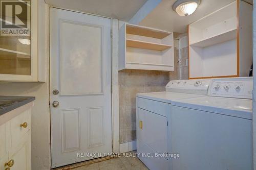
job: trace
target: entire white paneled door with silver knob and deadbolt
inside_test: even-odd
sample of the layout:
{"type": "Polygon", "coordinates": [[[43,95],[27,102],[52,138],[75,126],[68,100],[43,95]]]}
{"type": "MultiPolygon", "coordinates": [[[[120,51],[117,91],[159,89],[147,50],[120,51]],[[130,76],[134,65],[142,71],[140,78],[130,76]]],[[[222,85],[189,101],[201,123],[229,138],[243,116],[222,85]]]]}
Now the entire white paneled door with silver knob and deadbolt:
{"type": "Polygon", "coordinates": [[[98,155],[78,153],[112,152],[111,19],[50,12],[51,153],[58,167],[98,155]]]}

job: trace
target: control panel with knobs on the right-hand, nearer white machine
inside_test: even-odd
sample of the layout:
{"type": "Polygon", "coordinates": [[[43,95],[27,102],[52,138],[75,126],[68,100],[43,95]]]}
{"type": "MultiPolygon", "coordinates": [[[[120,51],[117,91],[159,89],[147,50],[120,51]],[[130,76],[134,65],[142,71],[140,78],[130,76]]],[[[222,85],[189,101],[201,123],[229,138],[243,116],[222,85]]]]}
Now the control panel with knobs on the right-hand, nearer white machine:
{"type": "Polygon", "coordinates": [[[208,95],[252,99],[252,77],[212,79],[208,95]]]}

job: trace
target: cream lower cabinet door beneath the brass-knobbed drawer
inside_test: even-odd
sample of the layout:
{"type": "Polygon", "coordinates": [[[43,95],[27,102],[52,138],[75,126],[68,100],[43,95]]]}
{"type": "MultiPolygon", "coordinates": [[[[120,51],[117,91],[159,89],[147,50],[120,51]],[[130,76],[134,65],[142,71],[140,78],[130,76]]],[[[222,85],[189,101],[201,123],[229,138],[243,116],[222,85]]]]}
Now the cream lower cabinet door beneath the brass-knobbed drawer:
{"type": "Polygon", "coordinates": [[[31,131],[29,131],[16,148],[9,152],[9,160],[13,159],[14,164],[11,170],[31,170],[31,131]]]}

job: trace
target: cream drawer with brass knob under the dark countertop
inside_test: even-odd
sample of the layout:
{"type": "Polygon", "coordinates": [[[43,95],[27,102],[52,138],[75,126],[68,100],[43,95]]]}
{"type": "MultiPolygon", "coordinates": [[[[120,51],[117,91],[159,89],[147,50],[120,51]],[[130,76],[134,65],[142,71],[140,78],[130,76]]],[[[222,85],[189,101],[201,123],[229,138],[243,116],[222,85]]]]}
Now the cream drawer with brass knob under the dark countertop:
{"type": "Polygon", "coordinates": [[[11,144],[16,147],[22,137],[31,129],[31,109],[24,111],[10,120],[11,144]],[[26,126],[22,126],[25,125],[26,126]]]}

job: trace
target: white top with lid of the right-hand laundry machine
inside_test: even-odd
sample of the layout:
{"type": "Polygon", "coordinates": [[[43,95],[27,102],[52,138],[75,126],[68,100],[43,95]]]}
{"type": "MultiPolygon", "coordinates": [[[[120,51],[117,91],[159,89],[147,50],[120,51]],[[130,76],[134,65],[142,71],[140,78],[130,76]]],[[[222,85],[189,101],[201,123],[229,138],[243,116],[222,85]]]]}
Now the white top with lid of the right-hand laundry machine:
{"type": "Polygon", "coordinates": [[[201,96],[199,98],[174,100],[172,105],[252,119],[252,100],[249,99],[201,96]]]}

